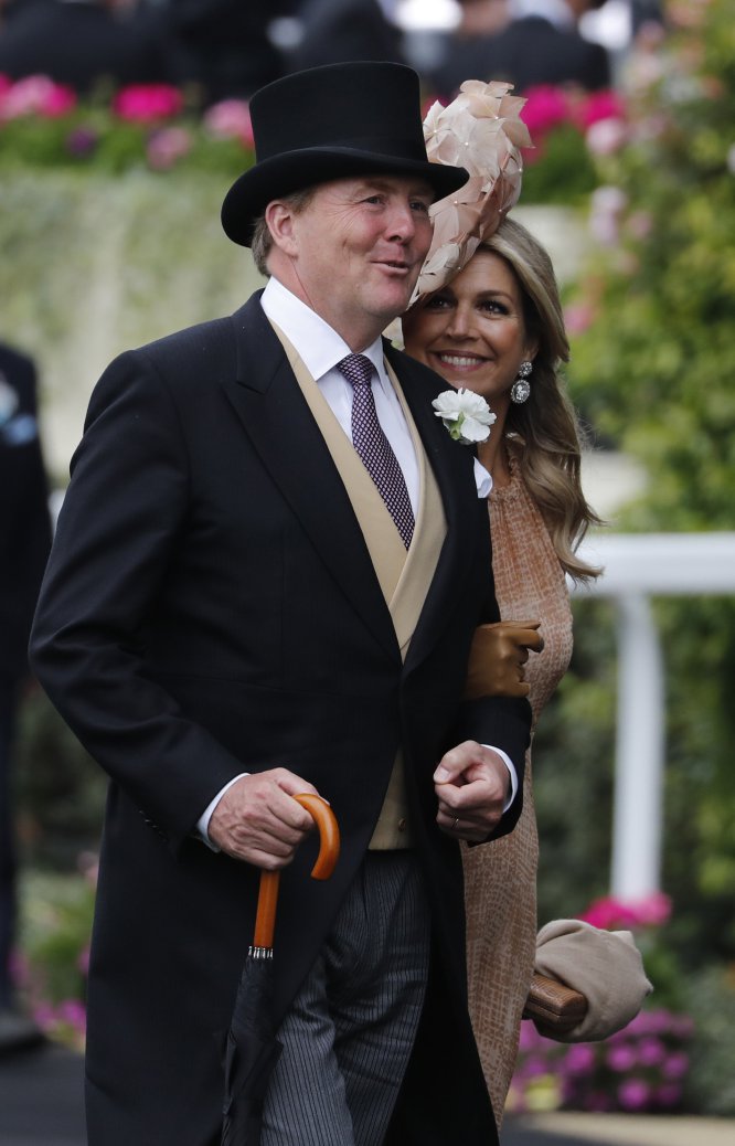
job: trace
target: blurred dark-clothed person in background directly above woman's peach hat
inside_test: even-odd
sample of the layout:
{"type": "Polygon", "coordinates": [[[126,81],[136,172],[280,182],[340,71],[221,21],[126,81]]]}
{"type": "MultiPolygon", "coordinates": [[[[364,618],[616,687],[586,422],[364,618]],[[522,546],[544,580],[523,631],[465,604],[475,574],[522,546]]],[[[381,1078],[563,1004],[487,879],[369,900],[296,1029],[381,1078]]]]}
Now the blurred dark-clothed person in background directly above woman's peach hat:
{"type": "MultiPolygon", "coordinates": [[[[609,87],[610,61],[601,44],[586,40],[578,28],[604,0],[508,0],[508,21],[499,31],[483,31],[480,15],[495,18],[498,0],[460,0],[472,11],[472,34],[458,34],[430,79],[435,91],[453,96],[459,85],[476,79],[507,80],[515,94],[539,84],[574,84],[593,92],[609,87]]],[[[461,28],[461,25],[460,25],[461,28]]]]}

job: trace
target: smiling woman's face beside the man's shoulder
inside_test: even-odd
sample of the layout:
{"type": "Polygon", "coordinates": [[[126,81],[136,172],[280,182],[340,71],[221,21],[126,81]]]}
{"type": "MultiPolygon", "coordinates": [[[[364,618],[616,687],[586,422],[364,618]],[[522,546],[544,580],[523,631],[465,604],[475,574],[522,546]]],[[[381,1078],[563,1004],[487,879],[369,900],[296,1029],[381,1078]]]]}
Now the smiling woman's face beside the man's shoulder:
{"type": "Polygon", "coordinates": [[[507,409],[521,362],[532,359],[521,288],[505,259],[482,248],[448,286],[403,317],[405,348],[452,386],[507,409]]]}

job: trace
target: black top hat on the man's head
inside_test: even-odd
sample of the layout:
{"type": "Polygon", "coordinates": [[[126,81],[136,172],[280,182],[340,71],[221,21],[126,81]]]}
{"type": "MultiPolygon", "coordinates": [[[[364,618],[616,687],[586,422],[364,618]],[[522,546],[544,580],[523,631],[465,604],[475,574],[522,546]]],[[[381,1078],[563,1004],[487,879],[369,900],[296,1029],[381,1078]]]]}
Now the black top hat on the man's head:
{"type": "Polygon", "coordinates": [[[464,167],[429,163],[419,77],[404,64],[353,61],[293,72],[250,104],[256,163],[230,187],[222,226],[250,246],[271,199],[332,179],[418,175],[443,198],[467,182],[464,167]]]}

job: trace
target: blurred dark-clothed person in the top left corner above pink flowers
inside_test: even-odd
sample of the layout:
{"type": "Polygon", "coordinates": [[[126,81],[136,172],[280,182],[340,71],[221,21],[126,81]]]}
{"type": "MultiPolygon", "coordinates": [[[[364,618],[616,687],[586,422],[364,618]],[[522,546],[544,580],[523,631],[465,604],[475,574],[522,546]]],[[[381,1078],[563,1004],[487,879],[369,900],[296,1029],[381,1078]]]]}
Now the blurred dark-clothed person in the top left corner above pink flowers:
{"type": "Polygon", "coordinates": [[[161,30],[135,0],[16,2],[0,24],[0,72],[11,79],[48,76],[87,95],[103,81],[160,81],[166,68],[161,30]]]}

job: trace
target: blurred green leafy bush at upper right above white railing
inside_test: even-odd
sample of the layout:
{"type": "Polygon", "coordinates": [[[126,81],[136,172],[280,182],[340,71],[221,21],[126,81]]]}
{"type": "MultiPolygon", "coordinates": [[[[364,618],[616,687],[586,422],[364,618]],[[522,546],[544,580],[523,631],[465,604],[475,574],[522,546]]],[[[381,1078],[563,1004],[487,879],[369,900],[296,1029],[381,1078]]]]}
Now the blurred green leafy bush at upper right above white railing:
{"type": "Polygon", "coordinates": [[[733,524],[735,179],[732,13],[711,0],[698,50],[672,40],[663,74],[631,104],[630,140],[602,165],[624,195],[619,245],[583,278],[594,322],[571,382],[594,425],[649,470],[637,528],[733,524]],[[696,65],[693,66],[694,58],[696,65]]]}

